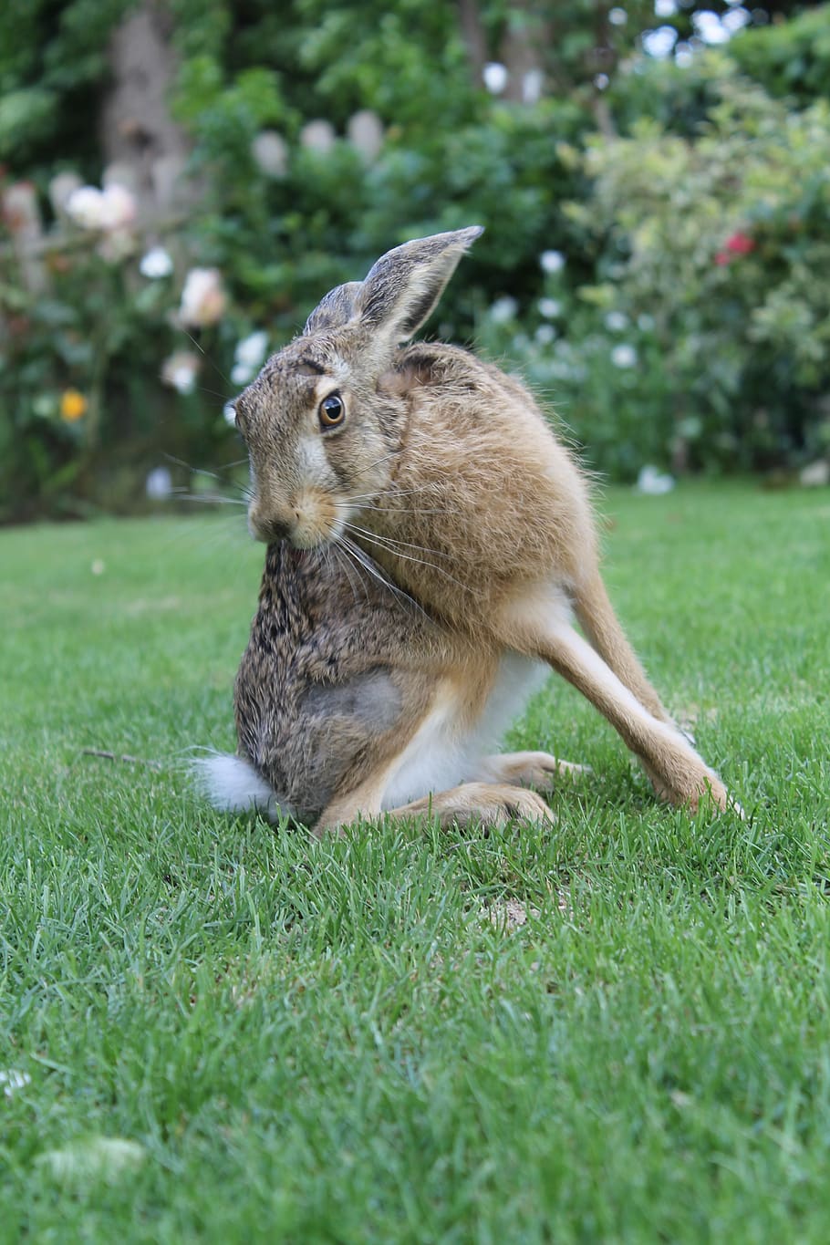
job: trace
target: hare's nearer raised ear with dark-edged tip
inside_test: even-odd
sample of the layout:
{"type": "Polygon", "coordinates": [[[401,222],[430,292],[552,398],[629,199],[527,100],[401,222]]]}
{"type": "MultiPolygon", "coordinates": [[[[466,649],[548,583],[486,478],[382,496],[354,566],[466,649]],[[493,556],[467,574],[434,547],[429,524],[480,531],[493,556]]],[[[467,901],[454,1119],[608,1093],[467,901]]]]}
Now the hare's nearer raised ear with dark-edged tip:
{"type": "Polygon", "coordinates": [[[482,233],[480,225],[469,225],[416,238],[381,255],[355,300],[356,320],[391,345],[406,341],[424,322],[459,259],[482,233]]]}

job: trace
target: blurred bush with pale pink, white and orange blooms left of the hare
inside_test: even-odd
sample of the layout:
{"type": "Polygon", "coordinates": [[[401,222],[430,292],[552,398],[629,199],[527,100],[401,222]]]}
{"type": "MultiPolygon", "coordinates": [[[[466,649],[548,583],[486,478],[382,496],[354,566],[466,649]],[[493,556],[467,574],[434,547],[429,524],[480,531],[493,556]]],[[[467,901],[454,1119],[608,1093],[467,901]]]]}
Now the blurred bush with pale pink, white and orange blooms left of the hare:
{"type": "Polygon", "coordinates": [[[14,260],[0,286],[0,520],[168,496],[152,476],[163,454],[195,467],[223,453],[223,372],[249,320],[217,270],[188,269],[178,238],[147,244],[124,187],[77,187],[46,233],[25,186],[0,189],[14,260]]]}

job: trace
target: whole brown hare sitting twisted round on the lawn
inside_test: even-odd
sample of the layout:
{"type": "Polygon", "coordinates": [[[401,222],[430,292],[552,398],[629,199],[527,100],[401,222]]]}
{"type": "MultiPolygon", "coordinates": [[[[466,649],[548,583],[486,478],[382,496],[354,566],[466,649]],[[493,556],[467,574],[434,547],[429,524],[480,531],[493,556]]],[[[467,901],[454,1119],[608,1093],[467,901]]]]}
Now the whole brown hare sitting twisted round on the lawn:
{"type": "Polygon", "coordinates": [[[530,393],[455,346],[401,349],[480,233],[406,243],[333,289],[236,400],[268,553],[238,754],[203,762],[220,808],[317,834],[381,813],[553,819],[531,788],[580,767],[495,752],[549,667],[661,797],[729,804],[616,619],[585,476],[530,393]]]}

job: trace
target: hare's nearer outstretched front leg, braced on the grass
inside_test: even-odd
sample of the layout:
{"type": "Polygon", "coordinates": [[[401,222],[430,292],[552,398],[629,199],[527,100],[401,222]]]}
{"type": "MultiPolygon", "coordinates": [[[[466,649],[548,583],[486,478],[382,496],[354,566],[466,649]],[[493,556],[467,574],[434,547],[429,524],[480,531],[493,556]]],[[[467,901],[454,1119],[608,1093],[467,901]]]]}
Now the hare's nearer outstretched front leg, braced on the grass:
{"type": "Polygon", "coordinates": [[[561,603],[546,599],[514,606],[510,642],[543,657],[615,727],[646,768],[660,796],[697,808],[707,796],[729,806],[727,791],[677,727],[660,721],[574,629],[561,603]]]}

